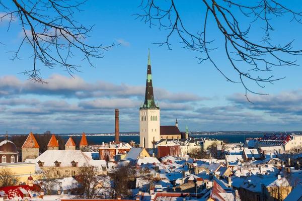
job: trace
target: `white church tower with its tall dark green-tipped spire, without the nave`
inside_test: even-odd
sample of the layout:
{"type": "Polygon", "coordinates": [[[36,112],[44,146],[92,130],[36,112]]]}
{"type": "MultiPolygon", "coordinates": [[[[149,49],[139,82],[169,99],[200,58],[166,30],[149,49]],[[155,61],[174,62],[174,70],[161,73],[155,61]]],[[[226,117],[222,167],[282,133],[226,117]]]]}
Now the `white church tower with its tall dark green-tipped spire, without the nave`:
{"type": "Polygon", "coordinates": [[[160,141],[160,108],[155,104],[150,51],[148,54],[146,92],[143,105],[139,108],[139,144],[140,147],[150,150],[153,141],[160,141]]]}

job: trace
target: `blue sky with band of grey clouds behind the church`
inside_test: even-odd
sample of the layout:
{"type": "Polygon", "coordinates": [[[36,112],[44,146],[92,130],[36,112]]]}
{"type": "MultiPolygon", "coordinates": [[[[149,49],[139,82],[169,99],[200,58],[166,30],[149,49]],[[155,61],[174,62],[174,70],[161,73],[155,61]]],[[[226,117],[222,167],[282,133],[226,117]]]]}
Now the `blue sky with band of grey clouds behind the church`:
{"type": "MultiPolygon", "coordinates": [[[[291,5],[286,5],[289,8],[291,5]]],[[[296,2],[295,9],[301,10],[296,2]]],[[[85,25],[95,25],[87,42],[111,45],[121,43],[104,53],[104,58],[94,60],[96,68],[83,62],[75,78],[60,67],[47,69],[40,66],[48,84],[27,80],[24,70],[30,70],[33,61],[28,58],[31,49],[25,45],[20,55],[23,60],[11,61],[11,54],[18,48],[22,38],[18,20],[7,32],[7,22],[0,22],[1,74],[0,74],[0,133],[27,134],[50,130],[54,133],[114,132],[114,110],[120,110],[120,131],[138,131],[138,108],[143,101],[148,48],[152,60],[155,98],[161,108],[161,125],[173,125],[178,118],[180,130],[188,124],[191,131],[290,131],[300,130],[302,120],[302,85],[300,66],[273,68],[276,77],[285,79],[259,88],[250,87],[269,95],[253,95],[247,102],[241,84],[225,81],[225,78],[209,63],[198,64],[195,57],[200,53],[182,49],[179,38],[172,37],[172,50],[153,43],[163,42],[167,31],[159,31],[132,14],[141,12],[139,2],[134,1],[88,1],[83,12],[75,19],[85,25]]],[[[196,2],[178,2],[180,15],[189,30],[197,31],[203,26],[202,6],[196,2]]],[[[0,14],[3,11],[0,11],[0,14]]],[[[238,14],[238,13],[235,13],[238,14]]],[[[238,14],[239,15],[239,14],[238,14]]],[[[276,32],[274,42],[285,44],[295,40],[293,48],[301,47],[299,34],[302,25],[290,17],[272,21],[276,32]]],[[[211,22],[211,21],[210,21],[211,22]]],[[[249,19],[241,23],[249,25],[249,19]]],[[[261,24],[254,23],[250,39],[261,37],[261,24]]],[[[216,39],[213,58],[230,77],[237,73],[225,60],[221,35],[215,26],[209,27],[210,37],[216,39]]],[[[285,57],[287,58],[287,56],[285,57]]],[[[288,57],[301,64],[301,56],[288,57]]]]}

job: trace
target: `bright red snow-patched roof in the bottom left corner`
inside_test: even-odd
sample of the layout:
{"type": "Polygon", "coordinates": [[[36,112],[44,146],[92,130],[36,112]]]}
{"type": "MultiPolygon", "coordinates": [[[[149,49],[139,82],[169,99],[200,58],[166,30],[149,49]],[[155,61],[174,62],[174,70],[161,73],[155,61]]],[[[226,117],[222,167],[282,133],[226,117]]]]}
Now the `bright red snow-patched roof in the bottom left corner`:
{"type": "Polygon", "coordinates": [[[22,191],[26,190],[29,193],[29,197],[36,194],[36,196],[40,195],[41,187],[39,185],[16,185],[16,186],[7,186],[0,187],[0,191],[5,192],[8,196],[8,199],[23,199],[24,193],[22,191]],[[21,190],[23,189],[23,190],[21,190]]]}

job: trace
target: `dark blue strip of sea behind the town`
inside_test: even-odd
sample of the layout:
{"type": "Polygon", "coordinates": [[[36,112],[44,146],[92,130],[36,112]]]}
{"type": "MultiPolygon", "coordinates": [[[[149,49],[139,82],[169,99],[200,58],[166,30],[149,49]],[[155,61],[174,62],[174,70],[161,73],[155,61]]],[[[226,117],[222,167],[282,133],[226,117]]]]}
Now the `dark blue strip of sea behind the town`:
{"type": "MultiPolygon", "coordinates": [[[[245,138],[256,138],[263,137],[263,135],[190,135],[190,137],[194,138],[214,138],[217,140],[227,140],[228,142],[244,142],[245,138]]],[[[68,136],[62,136],[65,141],[68,140],[68,136]]],[[[89,142],[93,142],[94,144],[101,145],[103,142],[108,143],[114,141],[114,136],[86,136],[89,142]]],[[[73,136],[73,140],[77,139],[77,141],[81,140],[81,136],[73,136]]],[[[135,143],[139,144],[139,136],[120,136],[120,141],[129,142],[133,140],[135,143]]]]}

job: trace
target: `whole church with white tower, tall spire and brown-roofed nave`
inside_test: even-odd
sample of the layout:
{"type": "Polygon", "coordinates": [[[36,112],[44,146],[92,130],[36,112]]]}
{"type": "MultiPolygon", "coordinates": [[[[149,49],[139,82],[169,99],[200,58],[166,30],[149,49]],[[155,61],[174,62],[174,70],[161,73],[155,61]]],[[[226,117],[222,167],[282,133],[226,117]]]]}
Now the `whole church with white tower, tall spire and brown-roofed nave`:
{"type": "Polygon", "coordinates": [[[147,65],[147,79],[145,99],[143,105],[140,104],[139,108],[139,144],[140,147],[146,150],[153,149],[153,143],[158,142],[161,139],[180,139],[182,137],[181,132],[178,129],[178,122],[176,120],[175,126],[161,126],[161,115],[159,104],[155,103],[152,73],[151,73],[151,61],[150,52],[148,54],[147,65]]]}

